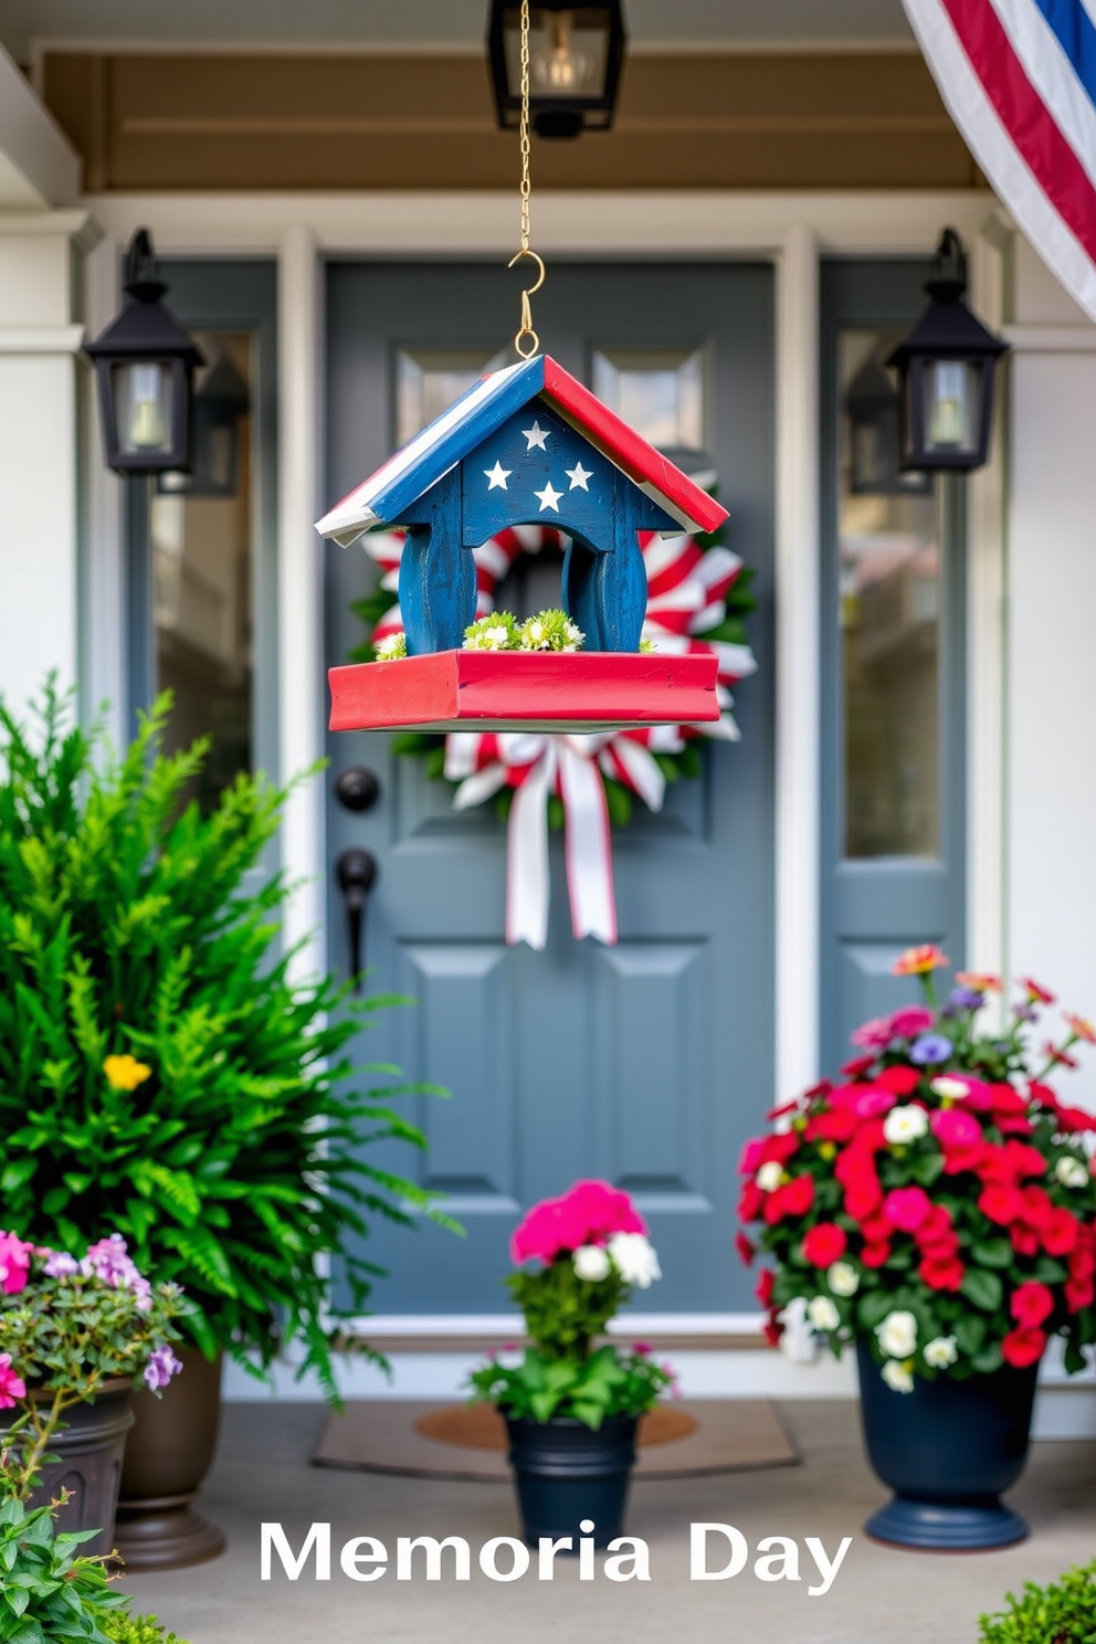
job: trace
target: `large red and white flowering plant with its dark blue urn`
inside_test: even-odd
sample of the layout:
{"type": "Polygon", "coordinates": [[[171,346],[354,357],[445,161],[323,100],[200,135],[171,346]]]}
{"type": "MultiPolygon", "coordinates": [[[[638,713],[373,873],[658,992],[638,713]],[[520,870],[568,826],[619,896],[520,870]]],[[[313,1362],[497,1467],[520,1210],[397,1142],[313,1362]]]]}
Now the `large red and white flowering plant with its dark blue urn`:
{"type": "MultiPolygon", "coordinates": [[[[1027,1534],[997,1498],[1024,1468],[1038,1363],[1058,1335],[1078,1371],[1096,1342],[1096,1118],[1047,1083],[1096,1029],[1066,1014],[1035,1054],[1053,996],[1025,978],[986,1028],[1001,978],[960,973],[940,1003],[946,963],[904,954],[923,1003],[859,1028],[841,1077],[746,1144],[739,1217],[776,1258],[758,1286],[769,1338],[797,1307],[835,1353],[856,1346],[868,1455],[896,1491],[869,1534],[963,1549],[1027,1534]]],[[[756,1253],[746,1235],[739,1251],[756,1253]]]]}

